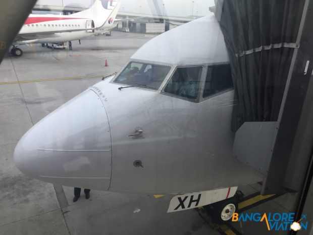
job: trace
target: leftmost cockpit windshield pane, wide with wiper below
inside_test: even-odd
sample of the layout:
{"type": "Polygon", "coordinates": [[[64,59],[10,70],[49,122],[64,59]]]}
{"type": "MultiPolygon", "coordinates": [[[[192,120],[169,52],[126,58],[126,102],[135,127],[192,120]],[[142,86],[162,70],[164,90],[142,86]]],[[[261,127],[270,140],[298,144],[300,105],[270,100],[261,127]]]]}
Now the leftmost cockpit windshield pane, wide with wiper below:
{"type": "Polygon", "coordinates": [[[170,66],[130,62],[114,82],[157,90],[170,69],[170,66]]]}

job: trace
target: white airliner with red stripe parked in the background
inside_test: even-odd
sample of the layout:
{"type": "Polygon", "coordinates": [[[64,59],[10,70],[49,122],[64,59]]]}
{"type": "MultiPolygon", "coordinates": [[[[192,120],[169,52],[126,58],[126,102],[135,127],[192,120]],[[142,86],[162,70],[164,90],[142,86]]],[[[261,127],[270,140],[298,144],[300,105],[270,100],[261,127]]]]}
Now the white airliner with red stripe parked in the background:
{"type": "Polygon", "coordinates": [[[95,0],[89,9],[72,15],[29,15],[12,43],[11,54],[23,55],[18,45],[78,40],[114,28],[118,21],[122,21],[115,19],[121,4],[117,1],[104,3],[105,8],[101,1],[95,0]]]}

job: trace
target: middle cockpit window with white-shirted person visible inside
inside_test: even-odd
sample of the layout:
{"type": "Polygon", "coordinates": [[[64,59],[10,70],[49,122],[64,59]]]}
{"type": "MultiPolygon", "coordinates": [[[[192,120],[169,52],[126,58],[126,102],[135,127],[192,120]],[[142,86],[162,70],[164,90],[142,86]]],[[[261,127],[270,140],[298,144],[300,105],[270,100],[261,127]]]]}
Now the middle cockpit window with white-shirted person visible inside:
{"type": "Polygon", "coordinates": [[[196,100],[201,70],[201,66],[177,68],[163,91],[196,100]]]}

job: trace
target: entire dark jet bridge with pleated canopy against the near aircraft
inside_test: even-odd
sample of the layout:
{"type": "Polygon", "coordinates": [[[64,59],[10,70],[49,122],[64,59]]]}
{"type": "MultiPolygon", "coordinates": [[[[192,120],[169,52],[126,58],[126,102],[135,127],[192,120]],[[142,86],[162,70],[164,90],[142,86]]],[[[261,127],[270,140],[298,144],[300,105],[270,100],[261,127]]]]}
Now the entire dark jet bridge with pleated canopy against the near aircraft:
{"type": "Polygon", "coordinates": [[[263,175],[263,195],[298,191],[298,215],[312,177],[312,8],[218,0],[214,9],[235,86],[233,155],[263,175]]]}

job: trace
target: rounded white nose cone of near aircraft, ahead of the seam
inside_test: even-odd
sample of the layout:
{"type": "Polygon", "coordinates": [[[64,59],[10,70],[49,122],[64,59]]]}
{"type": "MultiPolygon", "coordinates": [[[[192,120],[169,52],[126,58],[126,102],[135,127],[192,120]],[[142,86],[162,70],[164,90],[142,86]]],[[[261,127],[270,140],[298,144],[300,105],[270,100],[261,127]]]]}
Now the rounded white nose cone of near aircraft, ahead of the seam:
{"type": "Polygon", "coordinates": [[[108,190],[111,133],[96,93],[84,91],[34,125],[17,144],[14,161],[43,181],[108,190]]]}

